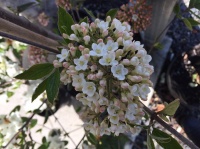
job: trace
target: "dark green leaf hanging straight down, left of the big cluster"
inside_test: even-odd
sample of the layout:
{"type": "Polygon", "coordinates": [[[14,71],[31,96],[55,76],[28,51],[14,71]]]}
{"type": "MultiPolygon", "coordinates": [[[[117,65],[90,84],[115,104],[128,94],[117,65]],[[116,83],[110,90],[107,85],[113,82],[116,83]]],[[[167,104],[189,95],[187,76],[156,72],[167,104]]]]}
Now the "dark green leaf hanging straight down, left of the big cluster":
{"type": "Polygon", "coordinates": [[[47,84],[46,84],[46,92],[47,92],[47,98],[48,101],[53,104],[54,100],[56,99],[59,91],[59,85],[60,85],[60,72],[59,69],[55,69],[54,73],[52,73],[47,78],[47,84]]]}

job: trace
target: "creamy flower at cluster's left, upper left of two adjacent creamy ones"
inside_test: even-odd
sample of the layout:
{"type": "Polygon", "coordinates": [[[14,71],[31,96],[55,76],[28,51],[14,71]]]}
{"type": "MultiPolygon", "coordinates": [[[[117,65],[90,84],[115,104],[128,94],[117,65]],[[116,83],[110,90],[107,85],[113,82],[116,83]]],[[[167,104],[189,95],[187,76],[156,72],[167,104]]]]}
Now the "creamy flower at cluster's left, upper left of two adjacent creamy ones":
{"type": "Polygon", "coordinates": [[[79,75],[73,75],[72,80],[73,80],[72,85],[74,87],[78,86],[80,88],[82,88],[83,84],[86,82],[83,73],[80,73],[79,75]]]}

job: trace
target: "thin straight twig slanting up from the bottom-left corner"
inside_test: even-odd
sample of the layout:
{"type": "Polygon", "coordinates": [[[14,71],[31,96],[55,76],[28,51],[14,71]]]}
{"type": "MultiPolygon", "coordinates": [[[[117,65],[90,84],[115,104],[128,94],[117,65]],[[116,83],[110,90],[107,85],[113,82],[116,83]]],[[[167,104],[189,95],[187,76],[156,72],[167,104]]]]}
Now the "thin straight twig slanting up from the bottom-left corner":
{"type": "MultiPolygon", "coordinates": [[[[39,106],[38,109],[40,109],[43,104],[46,102],[46,100],[39,106]]],[[[32,120],[32,118],[35,116],[36,113],[33,113],[29,119],[26,121],[26,123],[24,125],[22,125],[21,128],[19,128],[19,131],[8,141],[8,143],[5,146],[2,146],[3,149],[6,149],[8,147],[8,145],[16,138],[19,136],[19,134],[23,131],[23,129],[30,123],[30,121],[32,120]]]]}

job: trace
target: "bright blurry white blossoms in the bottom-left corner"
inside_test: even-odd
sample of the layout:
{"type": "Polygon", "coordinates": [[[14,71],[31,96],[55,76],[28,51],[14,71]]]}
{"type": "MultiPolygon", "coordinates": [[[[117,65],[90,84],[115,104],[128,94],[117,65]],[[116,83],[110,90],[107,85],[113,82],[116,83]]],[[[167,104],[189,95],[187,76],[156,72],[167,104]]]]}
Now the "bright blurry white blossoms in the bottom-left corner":
{"type": "MultiPolygon", "coordinates": [[[[22,119],[18,112],[12,112],[9,116],[0,115],[0,133],[3,137],[0,137],[0,147],[5,146],[10,139],[19,131],[19,128],[23,125],[22,119]]],[[[7,147],[8,149],[13,149],[14,143],[7,147]]]]}

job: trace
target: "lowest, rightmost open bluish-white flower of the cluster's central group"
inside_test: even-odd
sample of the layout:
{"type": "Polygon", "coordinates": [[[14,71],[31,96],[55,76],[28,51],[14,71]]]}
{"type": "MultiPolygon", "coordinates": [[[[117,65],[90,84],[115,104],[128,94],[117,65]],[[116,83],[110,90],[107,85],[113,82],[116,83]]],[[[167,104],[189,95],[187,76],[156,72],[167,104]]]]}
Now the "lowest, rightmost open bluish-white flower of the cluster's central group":
{"type": "Polygon", "coordinates": [[[125,75],[128,73],[128,69],[124,68],[124,65],[119,64],[117,66],[112,66],[111,72],[113,73],[113,76],[118,80],[124,80],[125,75]]]}

